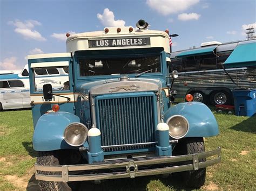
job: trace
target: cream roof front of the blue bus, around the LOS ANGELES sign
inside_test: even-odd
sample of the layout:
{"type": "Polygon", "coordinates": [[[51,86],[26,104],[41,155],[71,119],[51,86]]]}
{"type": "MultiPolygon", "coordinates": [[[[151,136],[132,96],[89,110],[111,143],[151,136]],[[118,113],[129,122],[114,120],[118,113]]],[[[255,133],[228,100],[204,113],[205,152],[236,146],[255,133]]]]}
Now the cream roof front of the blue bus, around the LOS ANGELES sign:
{"type": "Polygon", "coordinates": [[[169,35],[164,31],[147,29],[138,30],[133,29],[132,26],[107,27],[108,32],[104,32],[105,29],[103,31],[84,32],[71,35],[66,40],[67,52],[72,52],[74,54],[76,51],[83,50],[163,47],[166,53],[170,53],[169,35]],[[120,32],[117,31],[118,28],[120,29],[120,32]],[[130,28],[132,28],[131,32],[129,31],[130,28]],[[134,44],[134,42],[132,42],[132,40],[139,38],[147,39],[147,42],[149,43],[136,45],[136,43],[134,44]],[[110,46],[110,42],[114,43],[114,40],[122,39],[126,40],[126,44],[110,46]],[[107,40],[109,46],[90,46],[90,43],[93,40],[107,40]]]}

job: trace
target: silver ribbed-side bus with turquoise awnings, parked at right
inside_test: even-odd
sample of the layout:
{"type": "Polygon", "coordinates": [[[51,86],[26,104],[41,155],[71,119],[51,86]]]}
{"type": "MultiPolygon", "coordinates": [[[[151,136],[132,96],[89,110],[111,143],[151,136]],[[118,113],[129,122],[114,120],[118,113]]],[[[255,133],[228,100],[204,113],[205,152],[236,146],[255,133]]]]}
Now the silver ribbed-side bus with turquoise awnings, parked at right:
{"type": "Polygon", "coordinates": [[[179,72],[173,84],[178,98],[192,94],[193,101],[229,105],[233,104],[233,89],[256,88],[255,65],[256,40],[213,41],[171,53],[170,71],[179,72]]]}

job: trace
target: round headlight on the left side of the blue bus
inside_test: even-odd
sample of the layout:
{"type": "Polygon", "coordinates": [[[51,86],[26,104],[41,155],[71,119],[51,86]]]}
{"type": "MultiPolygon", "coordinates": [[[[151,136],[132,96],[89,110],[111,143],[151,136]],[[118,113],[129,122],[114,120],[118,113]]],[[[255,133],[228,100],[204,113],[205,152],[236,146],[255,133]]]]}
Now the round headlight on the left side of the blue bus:
{"type": "Polygon", "coordinates": [[[71,146],[80,146],[86,142],[88,129],[83,123],[71,123],[64,131],[64,139],[71,146]]]}

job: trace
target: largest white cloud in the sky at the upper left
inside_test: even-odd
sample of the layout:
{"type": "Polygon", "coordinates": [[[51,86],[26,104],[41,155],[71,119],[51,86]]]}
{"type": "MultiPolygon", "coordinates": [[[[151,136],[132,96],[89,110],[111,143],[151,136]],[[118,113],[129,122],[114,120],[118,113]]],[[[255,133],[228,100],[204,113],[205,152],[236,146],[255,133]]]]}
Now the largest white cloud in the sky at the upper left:
{"type": "Polygon", "coordinates": [[[45,41],[46,39],[42,37],[42,34],[36,30],[32,30],[36,25],[42,25],[37,20],[25,20],[21,22],[20,20],[15,20],[15,22],[8,22],[10,25],[14,25],[16,33],[21,34],[25,39],[34,39],[38,41],[45,41]]]}

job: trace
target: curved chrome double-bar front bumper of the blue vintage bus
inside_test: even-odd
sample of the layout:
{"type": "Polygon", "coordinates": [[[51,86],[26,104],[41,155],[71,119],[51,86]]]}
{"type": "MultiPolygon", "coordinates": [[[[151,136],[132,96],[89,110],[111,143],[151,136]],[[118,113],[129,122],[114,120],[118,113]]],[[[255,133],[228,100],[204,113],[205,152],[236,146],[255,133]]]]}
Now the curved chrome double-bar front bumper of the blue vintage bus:
{"type": "Polygon", "coordinates": [[[95,164],[86,165],[62,165],[62,166],[44,166],[35,164],[36,179],[43,181],[54,182],[70,182],[70,181],[88,181],[88,180],[106,180],[106,179],[120,179],[120,178],[134,178],[136,176],[147,176],[156,174],[166,174],[173,172],[182,172],[190,170],[198,170],[199,168],[205,168],[220,162],[220,147],[213,151],[207,151],[203,153],[179,155],[173,157],[150,157],[146,159],[125,159],[115,160],[113,162],[99,162],[95,164]],[[217,158],[199,162],[199,159],[211,157],[217,155],[217,158]],[[172,162],[189,161],[190,164],[171,166],[172,162]],[[138,170],[139,166],[145,165],[158,165],[166,164],[166,167],[152,168],[138,170]],[[126,171],[110,172],[110,173],[96,173],[90,174],[95,170],[125,168],[126,171]],[[87,171],[87,174],[69,174],[70,172],[87,171]],[[44,172],[44,173],[42,173],[44,172]],[[46,172],[59,172],[60,175],[49,175],[46,172]]]}

